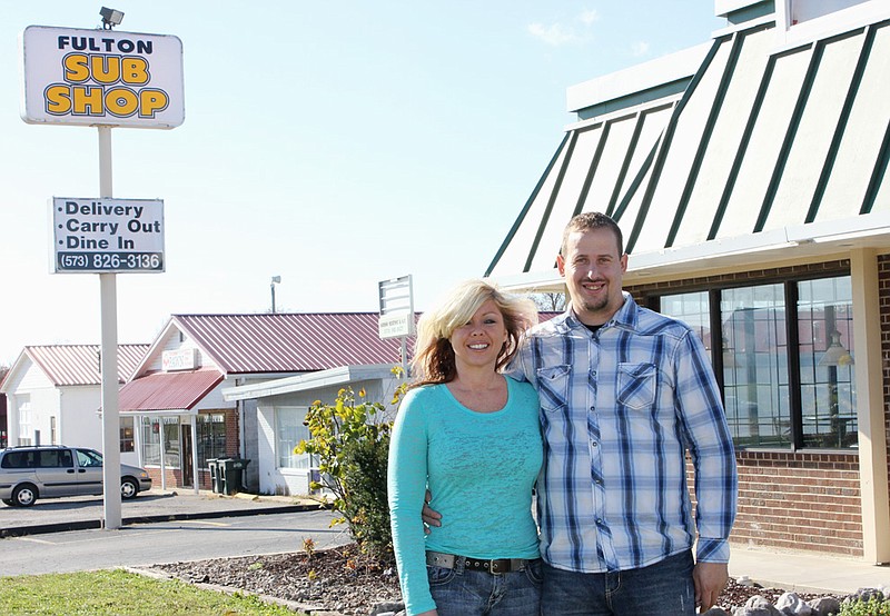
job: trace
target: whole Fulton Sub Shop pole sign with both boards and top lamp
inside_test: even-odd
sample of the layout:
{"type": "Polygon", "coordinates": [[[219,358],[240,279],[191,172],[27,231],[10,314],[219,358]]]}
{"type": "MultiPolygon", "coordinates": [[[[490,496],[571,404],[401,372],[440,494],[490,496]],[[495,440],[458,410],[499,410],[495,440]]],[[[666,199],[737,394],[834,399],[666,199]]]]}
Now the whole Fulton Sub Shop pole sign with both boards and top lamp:
{"type": "Polygon", "coordinates": [[[102,7],[102,29],[29,26],[21,37],[22,119],[96,127],[99,197],[55,197],[53,274],[99,275],[105,528],[121,526],[118,408],[118,272],[162,272],[164,202],[115,199],[111,129],[176,128],[185,120],[182,42],[113,31],[123,13],[102,7]]]}

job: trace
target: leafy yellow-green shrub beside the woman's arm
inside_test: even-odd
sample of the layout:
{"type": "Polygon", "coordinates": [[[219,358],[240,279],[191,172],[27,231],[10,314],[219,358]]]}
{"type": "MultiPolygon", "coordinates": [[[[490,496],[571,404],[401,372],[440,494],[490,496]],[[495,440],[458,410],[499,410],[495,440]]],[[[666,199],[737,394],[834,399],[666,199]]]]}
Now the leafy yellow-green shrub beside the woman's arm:
{"type": "MultiPolygon", "coordinates": [[[[393,369],[398,375],[400,368],[393,369]]],[[[396,388],[390,404],[398,403],[405,385],[396,388]]],[[[306,413],[309,439],[301,440],[296,454],[318,458],[320,481],[312,488],[325,488],[333,495],[333,507],[366,554],[383,560],[393,559],[389,508],[386,500],[386,461],[392,421],[384,417],[383,403],[365,400],[347,387],[340,389],[333,405],[313,403],[306,413]]]]}

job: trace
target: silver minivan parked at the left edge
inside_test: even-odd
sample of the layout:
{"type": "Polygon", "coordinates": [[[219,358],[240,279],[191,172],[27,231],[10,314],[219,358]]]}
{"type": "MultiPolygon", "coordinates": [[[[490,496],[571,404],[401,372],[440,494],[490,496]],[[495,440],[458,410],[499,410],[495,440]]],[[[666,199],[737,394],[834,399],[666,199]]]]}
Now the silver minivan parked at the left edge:
{"type": "MultiPolygon", "coordinates": [[[[120,497],[151,489],[144,468],[120,465],[120,497]]],[[[86,447],[21,446],[0,451],[0,500],[30,507],[38,498],[102,494],[102,455],[86,447]]]]}

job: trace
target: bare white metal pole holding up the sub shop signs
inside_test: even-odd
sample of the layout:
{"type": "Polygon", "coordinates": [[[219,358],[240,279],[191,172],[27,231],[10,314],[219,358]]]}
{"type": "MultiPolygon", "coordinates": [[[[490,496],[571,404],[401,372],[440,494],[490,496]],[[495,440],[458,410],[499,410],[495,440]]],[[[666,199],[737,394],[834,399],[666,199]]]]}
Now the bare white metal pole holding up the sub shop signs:
{"type": "MultiPolygon", "coordinates": [[[[99,129],[99,191],[103,199],[112,195],[111,127],[99,129]]],[[[118,408],[118,299],[117,275],[99,275],[102,371],[102,485],[105,528],[121,527],[120,513],[120,409],[118,408]]]]}

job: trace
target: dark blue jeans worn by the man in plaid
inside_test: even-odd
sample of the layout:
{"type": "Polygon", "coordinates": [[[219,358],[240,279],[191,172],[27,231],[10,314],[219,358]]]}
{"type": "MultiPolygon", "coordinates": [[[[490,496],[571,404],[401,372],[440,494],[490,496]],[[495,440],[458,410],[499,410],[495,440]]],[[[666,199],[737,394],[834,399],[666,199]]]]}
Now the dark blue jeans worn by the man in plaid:
{"type": "Polygon", "coordinates": [[[692,616],[692,553],[639,569],[581,574],[544,564],[545,616],[692,616]]]}

